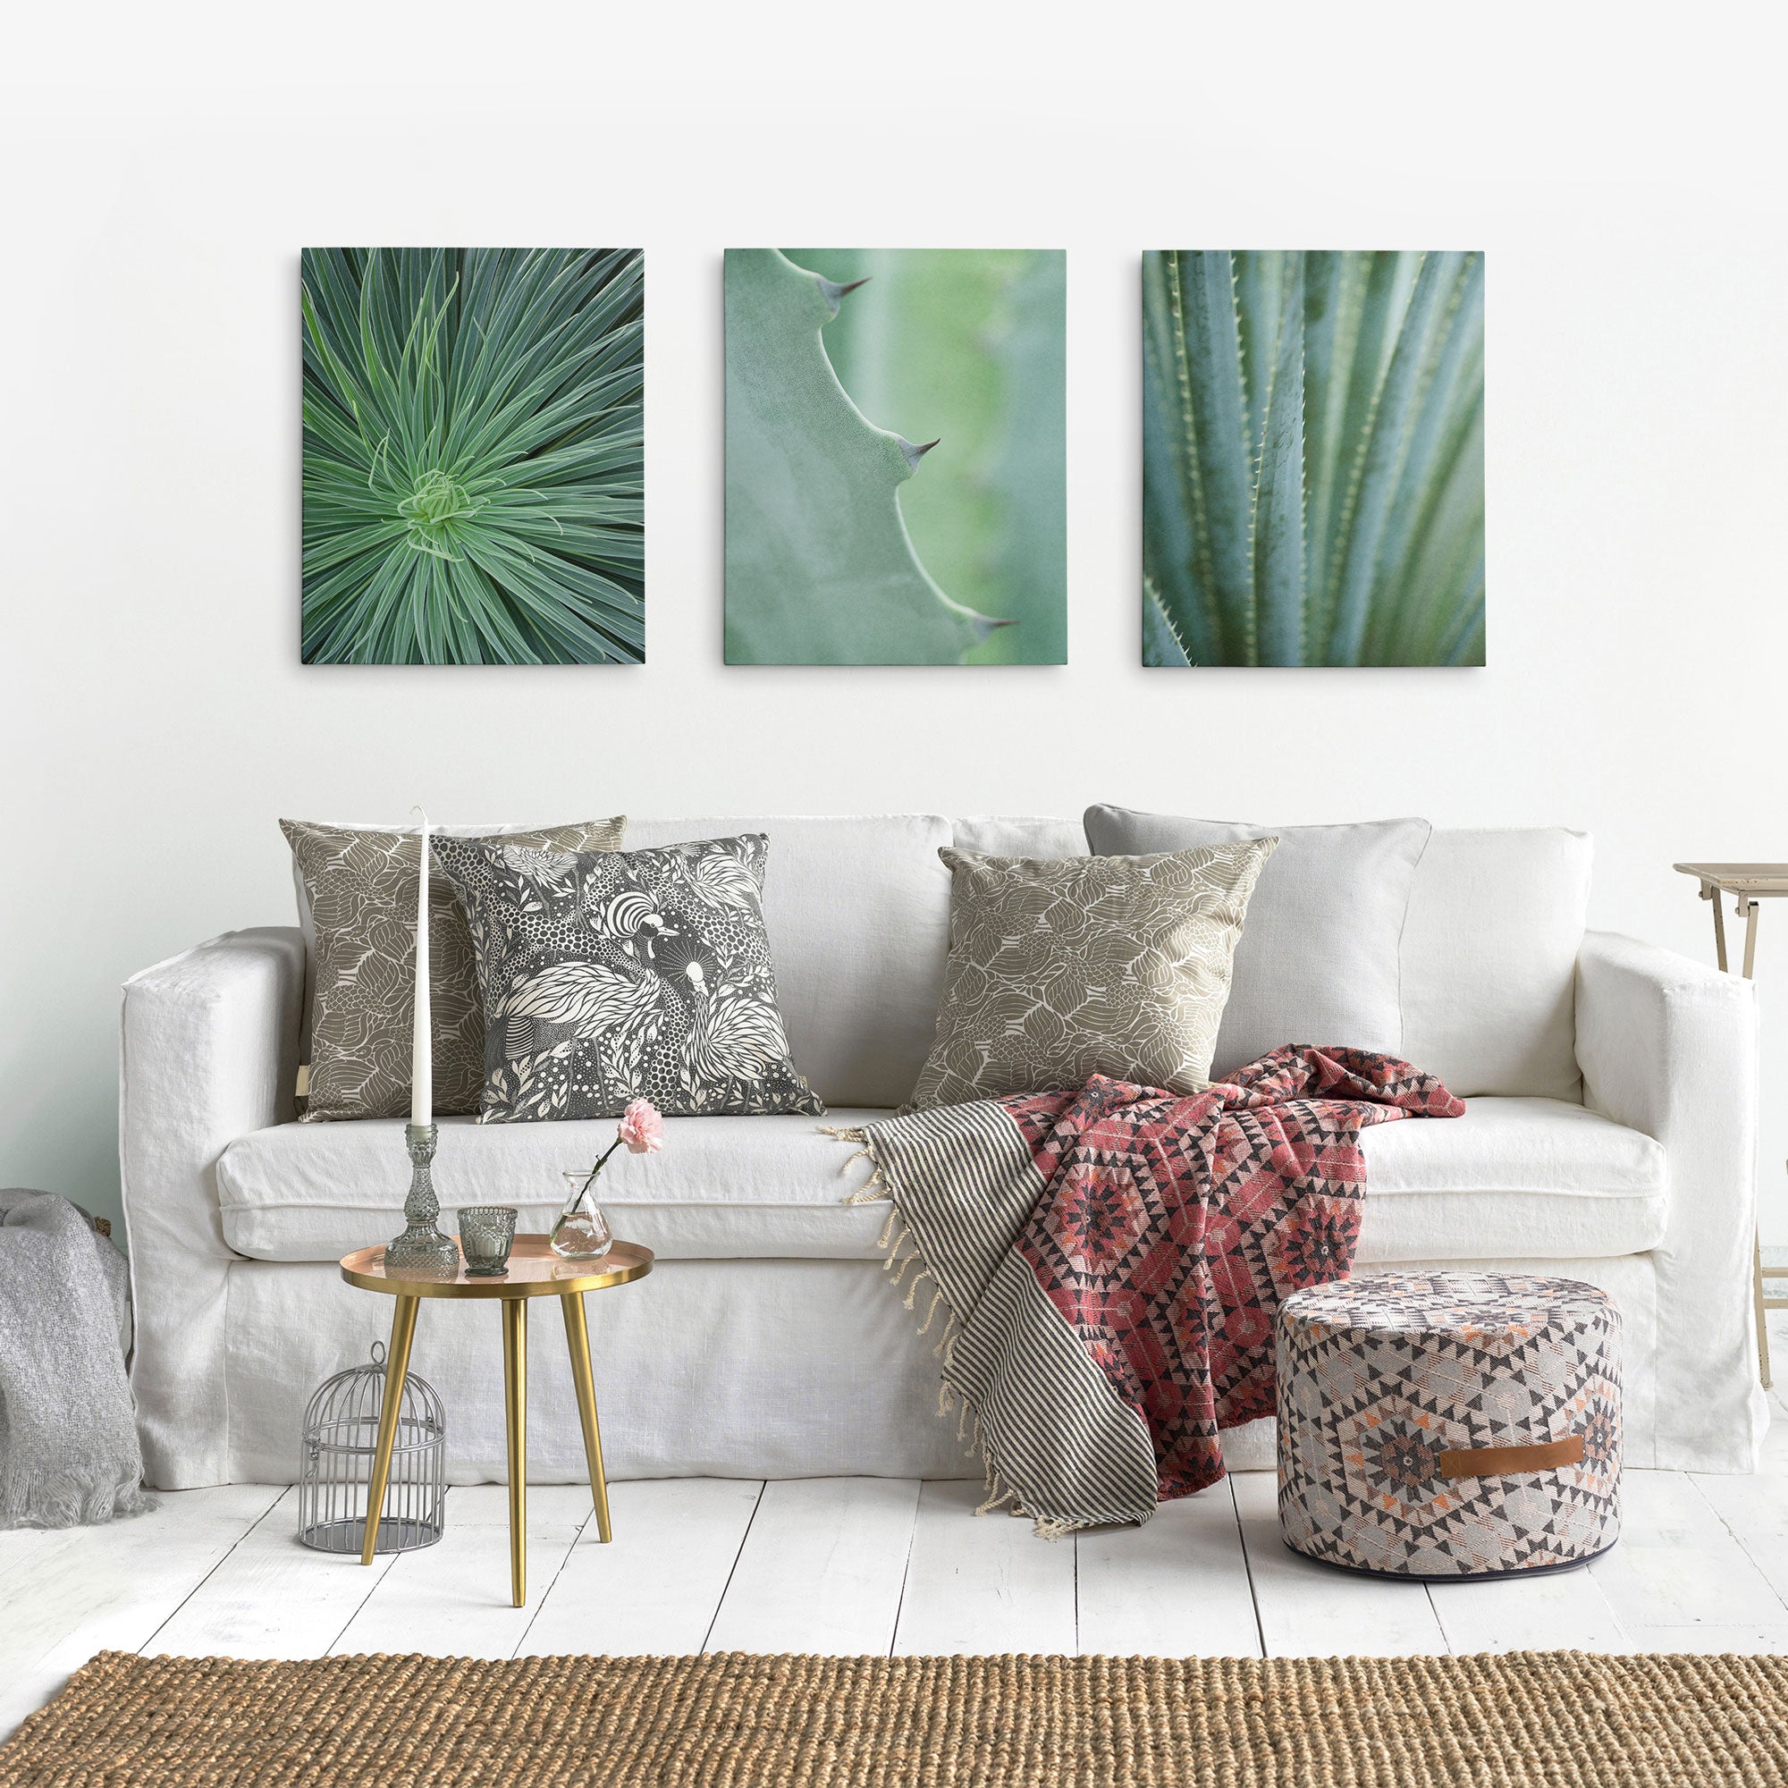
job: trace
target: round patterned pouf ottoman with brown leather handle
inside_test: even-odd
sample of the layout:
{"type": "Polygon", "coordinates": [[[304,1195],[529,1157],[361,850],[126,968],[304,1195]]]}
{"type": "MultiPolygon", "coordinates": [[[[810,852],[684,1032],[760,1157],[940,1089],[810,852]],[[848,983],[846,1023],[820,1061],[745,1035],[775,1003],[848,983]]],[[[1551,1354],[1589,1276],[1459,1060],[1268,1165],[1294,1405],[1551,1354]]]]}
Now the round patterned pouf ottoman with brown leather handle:
{"type": "Polygon", "coordinates": [[[1384,1273],[1278,1311],[1278,1525],[1393,1577],[1586,1564],[1620,1536],[1620,1312],[1575,1278],[1384,1273]]]}

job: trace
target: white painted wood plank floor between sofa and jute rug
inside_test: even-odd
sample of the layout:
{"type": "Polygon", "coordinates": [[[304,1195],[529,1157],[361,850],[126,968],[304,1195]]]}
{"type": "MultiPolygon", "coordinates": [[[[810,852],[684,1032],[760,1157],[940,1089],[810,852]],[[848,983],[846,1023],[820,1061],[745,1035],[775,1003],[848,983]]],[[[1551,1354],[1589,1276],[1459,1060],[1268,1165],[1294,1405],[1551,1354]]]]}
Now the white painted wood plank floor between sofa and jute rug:
{"type": "MultiPolygon", "coordinates": [[[[1788,1321],[1777,1359],[1788,1380],[1788,1321]]],[[[1348,1577],[1284,1548],[1252,1472],[1139,1531],[1035,1539],[980,1486],[885,1479],[529,1489],[526,1607],[506,1491],[449,1491],[438,1547],[372,1570],[295,1539],[295,1493],[236,1484],[154,1514],[0,1532],[0,1736],[98,1650],[1411,1654],[1788,1652],[1788,1405],[1756,1477],[1629,1472],[1625,1532],[1531,1582],[1348,1577]]]]}

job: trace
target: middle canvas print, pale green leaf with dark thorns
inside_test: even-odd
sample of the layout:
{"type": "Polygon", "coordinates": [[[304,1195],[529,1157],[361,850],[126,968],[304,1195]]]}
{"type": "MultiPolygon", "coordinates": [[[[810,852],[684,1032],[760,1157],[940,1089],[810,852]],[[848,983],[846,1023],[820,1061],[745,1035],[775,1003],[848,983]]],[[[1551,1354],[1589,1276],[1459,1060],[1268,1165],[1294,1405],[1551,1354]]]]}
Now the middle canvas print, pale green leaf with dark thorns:
{"type": "Polygon", "coordinates": [[[1066,663],[1066,304],[1058,250],[728,250],[728,663],[1066,663]]]}

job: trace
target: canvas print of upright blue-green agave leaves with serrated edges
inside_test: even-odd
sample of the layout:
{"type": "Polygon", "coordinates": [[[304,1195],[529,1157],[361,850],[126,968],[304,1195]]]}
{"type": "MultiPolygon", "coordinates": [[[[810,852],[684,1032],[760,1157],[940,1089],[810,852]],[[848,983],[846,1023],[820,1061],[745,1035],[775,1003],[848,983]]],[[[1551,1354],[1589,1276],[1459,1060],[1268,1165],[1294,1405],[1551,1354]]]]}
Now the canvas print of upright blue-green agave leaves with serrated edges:
{"type": "Polygon", "coordinates": [[[1484,257],[1143,257],[1143,662],[1484,663],[1484,257]]]}

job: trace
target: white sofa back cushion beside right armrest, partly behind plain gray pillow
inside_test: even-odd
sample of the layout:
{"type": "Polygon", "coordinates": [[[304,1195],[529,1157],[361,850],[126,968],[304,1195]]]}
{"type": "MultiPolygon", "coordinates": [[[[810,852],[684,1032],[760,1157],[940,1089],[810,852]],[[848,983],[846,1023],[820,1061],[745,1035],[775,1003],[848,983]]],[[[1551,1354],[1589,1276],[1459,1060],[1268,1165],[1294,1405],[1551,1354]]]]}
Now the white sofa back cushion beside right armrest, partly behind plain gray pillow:
{"type": "Polygon", "coordinates": [[[1590,835],[1436,831],[1404,926],[1404,1053],[1459,1098],[1582,1098],[1577,951],[1590,835]]]}

